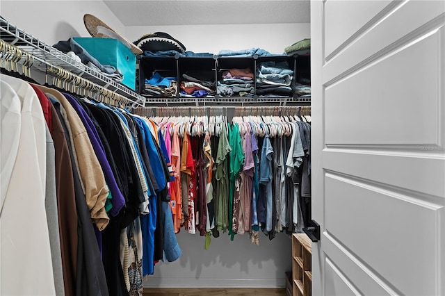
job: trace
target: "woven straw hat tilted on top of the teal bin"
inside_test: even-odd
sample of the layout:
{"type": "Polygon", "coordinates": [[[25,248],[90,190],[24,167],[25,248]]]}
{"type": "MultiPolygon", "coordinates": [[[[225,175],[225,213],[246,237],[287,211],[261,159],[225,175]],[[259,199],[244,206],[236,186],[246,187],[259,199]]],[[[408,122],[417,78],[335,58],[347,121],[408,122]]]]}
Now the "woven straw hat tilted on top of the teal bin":
{"type": "Polygon", "coordinates": [[[114,31],[112,28],[110,28],[107,24],[102,22],[94,15],[90,15],[88,13],[86,15],[83,15],[83,24],[85,24],[88,33],[90,33],[92,37],[118,39],[120,40],[120,42],[125,44],[125,46],[127,46],[133,52],[133,54],[138,55],[143,53],[143,51],[136,47],[136,45],[129,42],[127,39],[124,38],[124,36],[114,31]]]}

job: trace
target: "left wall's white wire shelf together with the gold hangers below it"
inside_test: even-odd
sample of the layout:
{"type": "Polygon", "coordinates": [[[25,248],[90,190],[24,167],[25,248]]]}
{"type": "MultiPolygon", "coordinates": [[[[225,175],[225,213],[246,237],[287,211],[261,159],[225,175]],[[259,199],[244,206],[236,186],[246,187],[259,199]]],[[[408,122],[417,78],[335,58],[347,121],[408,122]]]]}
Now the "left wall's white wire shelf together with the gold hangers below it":
{"type": "Polygon", "coordinates": [[[68,87],[70,91],[85,88],[85,94],[115,103],[125,101],[129,108],[145,106],[145,98],[140,94],[45,44],[3,17],[0,17],[0,40],[2,65],[8,64],[6,67],[13,71],[18,70],[19,64],[24,76],[29,77],[31,69],[35,69],[54,77],[54,83],[61,88],[68,87]]]}

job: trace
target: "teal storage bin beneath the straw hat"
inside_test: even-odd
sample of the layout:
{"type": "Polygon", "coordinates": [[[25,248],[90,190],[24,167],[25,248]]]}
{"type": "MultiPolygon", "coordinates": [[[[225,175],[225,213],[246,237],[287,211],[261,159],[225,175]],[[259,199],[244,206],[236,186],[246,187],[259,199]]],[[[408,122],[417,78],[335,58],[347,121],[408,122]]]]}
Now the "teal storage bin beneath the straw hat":
{"type": "Polygon", "coordinates": [[[76,37],[73,39],[102,65],[111,65],[119,69],[124,75],[122,84],[135,90],[136,56],[120,40],[95,37],[76,37]]]}

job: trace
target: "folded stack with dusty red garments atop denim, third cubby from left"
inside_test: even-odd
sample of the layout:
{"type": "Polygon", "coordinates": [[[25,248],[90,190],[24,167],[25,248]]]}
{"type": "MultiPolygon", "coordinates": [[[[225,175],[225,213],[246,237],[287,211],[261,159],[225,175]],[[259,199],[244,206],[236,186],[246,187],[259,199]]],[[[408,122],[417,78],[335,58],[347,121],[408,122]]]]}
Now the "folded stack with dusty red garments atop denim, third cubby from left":
{"type": "Polygon", "coordinates": [[[223,97],[243,97],[254,94],[252,69],[229,69],[218,81],[217,93],[223,97]]]}

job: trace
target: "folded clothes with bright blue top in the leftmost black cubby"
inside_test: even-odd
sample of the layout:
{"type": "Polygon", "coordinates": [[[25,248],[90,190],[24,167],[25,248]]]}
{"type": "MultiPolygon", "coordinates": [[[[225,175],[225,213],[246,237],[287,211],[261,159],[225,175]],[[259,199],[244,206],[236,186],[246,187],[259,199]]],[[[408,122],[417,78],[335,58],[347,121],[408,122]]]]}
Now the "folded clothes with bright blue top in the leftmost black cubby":
{"type": "Polygon", "coordinates": [[[142,94],[145,97],[176,97],[177,78],[163,77],[155,72],[152,78],[145,79],[142,94]]]}

